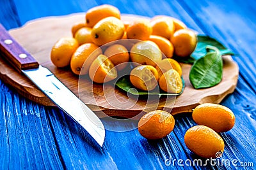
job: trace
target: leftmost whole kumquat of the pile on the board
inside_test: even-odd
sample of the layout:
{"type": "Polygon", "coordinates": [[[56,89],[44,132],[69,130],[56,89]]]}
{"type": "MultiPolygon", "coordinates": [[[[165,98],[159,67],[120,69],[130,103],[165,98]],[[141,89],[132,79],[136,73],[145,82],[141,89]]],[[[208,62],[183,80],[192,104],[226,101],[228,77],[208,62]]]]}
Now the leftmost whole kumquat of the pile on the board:
{"type": "Polygon", "coordinates": [[[66,67],[70,64],[73,53],[79,44],[74,38],[59,39],[51,50],[51,61],[56,67],[66,67]]]}

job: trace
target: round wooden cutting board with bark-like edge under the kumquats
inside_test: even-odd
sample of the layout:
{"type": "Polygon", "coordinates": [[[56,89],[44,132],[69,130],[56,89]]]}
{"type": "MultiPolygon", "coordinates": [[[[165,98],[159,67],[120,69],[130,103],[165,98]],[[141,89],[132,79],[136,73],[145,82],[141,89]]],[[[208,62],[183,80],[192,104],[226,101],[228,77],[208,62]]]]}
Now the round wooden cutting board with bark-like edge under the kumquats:
{"type": "MultiPolygon", "coordinates": [[[[122,20],[131,21],[141,18],[137,15],[122,15],[122,20]]],[[[10,31],[28,52],[30,52],[42,66],[49,68],[67,87],[72,90],[99,117],[138,117],[147,111],[163,109],[172,114],[191,112],[201,103],[220,103],[228,94],[234,92],[237,84],[239,69],[230,56],[223,56],[223,80],[208,89],[193,89],[189,82],[190,64],[181,64],[186,87],[183,94],[177,97],[138,97],[127,95],[122,90],[111,85],[104,86],[89,80],[79,79],[70,69],[60,69],[52,65],[50,60],[51,48],[61,37],[71,37],[71,27],[76,22],[84,21],[84,13],[61,17],[46,17],[28,22],[28,24],[10,31]],[[142,111],[142,112],[141,112],[142,111]],[[141,114],[139,114],[141,113],[141,114]],[[137,115],[137,116],[136,116],[137,115]]],[[[18,73],[6,61],[0,59],[0,78],[11,85],[24,97],[45,106],[55,106],[26,76],[18,73]]]]}

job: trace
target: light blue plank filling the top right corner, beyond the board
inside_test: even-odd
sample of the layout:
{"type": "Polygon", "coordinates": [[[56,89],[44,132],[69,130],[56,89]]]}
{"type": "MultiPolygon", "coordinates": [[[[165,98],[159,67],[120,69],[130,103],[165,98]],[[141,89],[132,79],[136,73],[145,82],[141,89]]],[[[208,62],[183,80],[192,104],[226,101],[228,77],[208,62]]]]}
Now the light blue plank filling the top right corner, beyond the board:
{"type": "MultiPolygon", "coordinates": [[[[181,1],[182,2],[182,1],[181,1]]],[[[240,76],[256,94],[255,1],[184,1],[184,9],[195,16],[205,34],[219,39],[238,55],[234,57],[240,68],[240,76]],[[247,9],[252,10],[247,10],[247,9]]]]}

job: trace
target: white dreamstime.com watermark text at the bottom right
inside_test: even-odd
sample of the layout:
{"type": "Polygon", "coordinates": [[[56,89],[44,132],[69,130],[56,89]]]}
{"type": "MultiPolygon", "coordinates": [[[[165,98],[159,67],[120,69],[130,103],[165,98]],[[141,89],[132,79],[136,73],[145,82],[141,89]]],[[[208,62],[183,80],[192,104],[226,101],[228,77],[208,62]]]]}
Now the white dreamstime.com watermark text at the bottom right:
{"type": "Polygon", "coordinates": [[[222,157],[221,152],[216,153],[216,159],[166,159],[164,164],[166,166],[234,166],[234,167],[253,167],[253,162],[241,162],[237,159],[220,159],[222,157]]]}

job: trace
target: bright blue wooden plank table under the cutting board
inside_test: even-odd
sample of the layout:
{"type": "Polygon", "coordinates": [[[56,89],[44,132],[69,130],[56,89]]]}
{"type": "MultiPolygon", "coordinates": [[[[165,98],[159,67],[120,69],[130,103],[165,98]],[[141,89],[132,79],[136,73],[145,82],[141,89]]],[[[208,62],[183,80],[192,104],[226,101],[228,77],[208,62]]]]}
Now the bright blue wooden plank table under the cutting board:
{"type": "Polygon", "coordinates": [[[173,132],[158,141],[141,137],[136,122],[104,118],[105,125],[134,130],[106,131],[100,148],[61,110],[33,103],[0,80],[0,169],[256,169],[256,2],[1,0],[0,22],[13,29],[35,18],[85,12],[104,3],[122,13],[179,18],[236,53],[237,88],[221,103],[234,111],[236,124],[220,134],[223,156],[207,165],[194,161],[200,157],[184,144],[186,130],[196,125],[188,113],[175,115],[173,132]]]}

